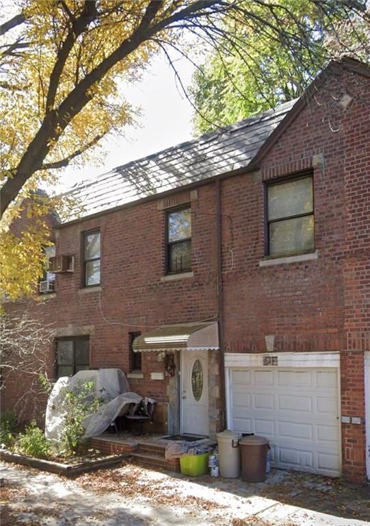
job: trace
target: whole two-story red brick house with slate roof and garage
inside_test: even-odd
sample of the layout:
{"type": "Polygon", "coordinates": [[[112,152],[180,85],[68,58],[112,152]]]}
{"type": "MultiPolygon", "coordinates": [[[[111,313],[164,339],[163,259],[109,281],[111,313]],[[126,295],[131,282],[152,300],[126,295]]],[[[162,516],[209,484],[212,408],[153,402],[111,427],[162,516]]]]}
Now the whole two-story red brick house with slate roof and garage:
{"type": "Polygon", "coordinates": [[[254,432],[277,467],[369,477],[369,77],[332,62],[296,101],[77,185],[69,271],[34,307],[55,375],[122,368],[163,432],[254,432]]]}

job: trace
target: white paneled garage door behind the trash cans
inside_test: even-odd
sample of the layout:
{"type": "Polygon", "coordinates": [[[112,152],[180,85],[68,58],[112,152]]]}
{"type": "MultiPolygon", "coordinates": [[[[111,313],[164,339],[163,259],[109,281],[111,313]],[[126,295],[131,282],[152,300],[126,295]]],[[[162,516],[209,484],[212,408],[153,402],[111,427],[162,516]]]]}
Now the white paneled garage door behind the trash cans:
{"type": "Polygon", "coordinates": [[[273,466],[340,475],[336,368],[230,369],[230,422],[269,439],[273,466]]]}

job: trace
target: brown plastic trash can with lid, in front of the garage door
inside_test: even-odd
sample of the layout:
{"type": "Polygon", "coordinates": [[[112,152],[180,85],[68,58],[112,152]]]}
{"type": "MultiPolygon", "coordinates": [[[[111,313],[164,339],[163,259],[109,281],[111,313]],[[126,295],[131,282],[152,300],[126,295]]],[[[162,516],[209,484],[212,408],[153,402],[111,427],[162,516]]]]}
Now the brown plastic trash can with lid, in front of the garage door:
{"type": "Polygon", "coordinates": [[[263,436],[246,436],[239,441],[241,449],[241,480],[263,482],[266,479],[266,458],[269,441],[263,436]]]}

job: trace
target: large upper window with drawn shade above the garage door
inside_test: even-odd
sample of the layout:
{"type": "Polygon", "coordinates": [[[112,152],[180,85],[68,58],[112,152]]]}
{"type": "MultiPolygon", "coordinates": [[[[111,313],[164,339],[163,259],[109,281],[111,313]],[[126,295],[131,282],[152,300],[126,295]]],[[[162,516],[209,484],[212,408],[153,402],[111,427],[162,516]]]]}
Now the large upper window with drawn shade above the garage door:
{"type": "Polygon", "coordinates": [[[267,184],[268,255],[314,248],[313,176],[300,175],[267,184]]]}

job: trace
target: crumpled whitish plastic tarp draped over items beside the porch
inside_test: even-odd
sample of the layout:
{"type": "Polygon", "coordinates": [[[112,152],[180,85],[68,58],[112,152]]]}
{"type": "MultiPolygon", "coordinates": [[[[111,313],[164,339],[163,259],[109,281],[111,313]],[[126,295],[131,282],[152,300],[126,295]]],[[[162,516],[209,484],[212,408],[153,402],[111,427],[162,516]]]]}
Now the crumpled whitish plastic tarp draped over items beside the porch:
{"type": "Polygon", "coordinates": [[[118,415],[126,414],[132,403],[139,404],[143,399],[135,392],[129,391],[129,382],[120,369],[79,371],[72,377],[58,379],[49,396],[45,418],[45,436],[55,449],[61,447],[66,416],[63,402],[66,394],[70,391],[79,392],[86,382],[94,383],[92,397],[102,399],[103,403],[96,413],[83,418],[83,438],[100,435],[118,415]]]}

